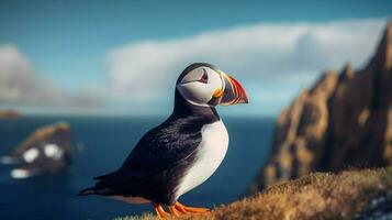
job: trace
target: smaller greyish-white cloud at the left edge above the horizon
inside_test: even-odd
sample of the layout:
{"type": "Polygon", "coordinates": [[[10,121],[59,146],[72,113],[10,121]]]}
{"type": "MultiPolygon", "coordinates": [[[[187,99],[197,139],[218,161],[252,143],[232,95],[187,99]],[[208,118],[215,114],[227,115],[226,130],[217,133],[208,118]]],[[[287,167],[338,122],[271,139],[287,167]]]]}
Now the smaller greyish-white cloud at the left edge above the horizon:
{"type": "Polygon", "coordinates": [[[69,112],[93,108],[86,94],[70,95],[48,78],[35,74],[29,59],[14,45],[0,45],[0,108],[69,112]]]}

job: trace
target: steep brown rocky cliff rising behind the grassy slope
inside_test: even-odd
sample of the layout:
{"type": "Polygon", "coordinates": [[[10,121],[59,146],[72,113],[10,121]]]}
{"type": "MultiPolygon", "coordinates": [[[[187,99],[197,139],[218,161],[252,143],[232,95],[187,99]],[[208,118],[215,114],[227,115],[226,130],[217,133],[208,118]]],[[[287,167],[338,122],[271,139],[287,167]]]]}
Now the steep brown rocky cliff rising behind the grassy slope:
{"type": "Polygon", "coordinates": [[[313,170],[392,165],[392,21],[361,70],[327,72],[277,120],[259,190],[313,170]]]}

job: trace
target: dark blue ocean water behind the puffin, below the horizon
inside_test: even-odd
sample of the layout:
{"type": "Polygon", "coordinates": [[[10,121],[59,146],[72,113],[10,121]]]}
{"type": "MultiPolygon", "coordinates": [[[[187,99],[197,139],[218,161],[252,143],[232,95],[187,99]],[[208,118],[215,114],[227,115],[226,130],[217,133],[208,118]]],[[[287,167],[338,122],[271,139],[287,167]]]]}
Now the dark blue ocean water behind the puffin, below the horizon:
{"type": "MultiPolygon", "coordinates": [[[[93,184],[92,177],[115,170],[138,139],[165,118],[23,117],[0,120],[0,155],[7,155],[36,128],[67,121],[72,143],[82,145],[67,172],[12,179],[12,166],[0,165],[0,219],[113,219],[153,211],[150,205],[127,205],[98,196],[76,197],[93,184]]],[[[224,117],[229,134],[225,160],[203,185],[180,201],[213,207],[245,193],[266,162],[273,130],[272,118],[224,117]]]]}

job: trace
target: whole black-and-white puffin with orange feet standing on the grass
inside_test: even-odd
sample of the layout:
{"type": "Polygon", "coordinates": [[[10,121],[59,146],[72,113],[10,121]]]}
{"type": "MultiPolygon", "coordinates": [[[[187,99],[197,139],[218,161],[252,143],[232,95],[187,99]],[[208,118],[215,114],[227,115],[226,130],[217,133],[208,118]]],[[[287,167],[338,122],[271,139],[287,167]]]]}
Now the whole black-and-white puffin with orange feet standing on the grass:
{"type": "Polygon", "coordinates": [[[141,138],[117,170],[94,177],[94,186],[77,196],[152,202],[160,219],[209,212],[179,198],[204,183],[226,154],[228,133],[215,107],[238,103],[248,98],[235,78],[212,64],[189,65],[177,79],[171,116],[141,138]]]}

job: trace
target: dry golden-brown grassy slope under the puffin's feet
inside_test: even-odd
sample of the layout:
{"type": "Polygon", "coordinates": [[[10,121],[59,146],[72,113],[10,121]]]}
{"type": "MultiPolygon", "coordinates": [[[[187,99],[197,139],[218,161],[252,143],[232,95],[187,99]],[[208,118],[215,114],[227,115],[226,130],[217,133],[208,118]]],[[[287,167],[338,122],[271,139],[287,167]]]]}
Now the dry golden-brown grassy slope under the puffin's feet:
{"type": "MultiPolygon", "coordinates": [[[[216,207],[209,215],[177,219],[352,219],[371,198],[391,189],[392,167],[340,174],[314,173],[276,184],[231,205],[216,207]]],[[[156,218],[144,215],[119,219],[156,218]]]]}

